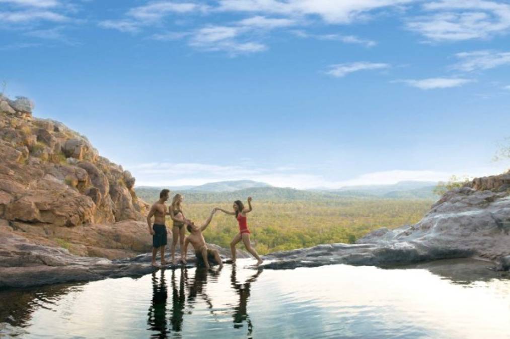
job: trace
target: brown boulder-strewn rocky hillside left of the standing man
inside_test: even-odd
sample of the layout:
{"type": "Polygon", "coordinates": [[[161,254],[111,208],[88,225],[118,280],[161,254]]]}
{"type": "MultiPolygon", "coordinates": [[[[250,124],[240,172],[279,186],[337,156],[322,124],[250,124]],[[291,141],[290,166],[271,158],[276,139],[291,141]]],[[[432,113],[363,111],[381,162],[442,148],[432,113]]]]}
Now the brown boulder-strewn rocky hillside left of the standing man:
{"type": "Polygon", "coordinates": [[[131,173],[33,108],[0,96],[0,229],[81,256],[148,251],[147,204],[131,173]]]}

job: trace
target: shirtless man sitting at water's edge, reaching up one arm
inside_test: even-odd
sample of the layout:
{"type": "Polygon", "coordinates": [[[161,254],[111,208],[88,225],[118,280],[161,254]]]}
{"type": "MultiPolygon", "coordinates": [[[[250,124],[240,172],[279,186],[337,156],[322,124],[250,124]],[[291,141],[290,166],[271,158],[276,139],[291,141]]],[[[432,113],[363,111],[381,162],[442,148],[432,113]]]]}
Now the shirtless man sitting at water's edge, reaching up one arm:
{"type": "Polygon", "coordinates": [[[189,233],[189,236],[186,237],[184,241],[184,258],[182,259],[183,263],[186,263],[186,255],[188,254],[188,244],[191,243],[193,248],[195,249],[196,255],[196,263],[198,266],[206,266],[210,268],[209,261],[214,264],[219,264],[220,267],[223,267],[223,263],[221,262],[220,253],[216,249],[209,249],[206,245],[206,239],[203,238],[202,232],[209,226],[211,220],[213,219],[214,213],[216,213],[217,209],[215,208],[206,222],[197,226],[193,222],[189,222],[186,225],[186,229],[189,233]]]}

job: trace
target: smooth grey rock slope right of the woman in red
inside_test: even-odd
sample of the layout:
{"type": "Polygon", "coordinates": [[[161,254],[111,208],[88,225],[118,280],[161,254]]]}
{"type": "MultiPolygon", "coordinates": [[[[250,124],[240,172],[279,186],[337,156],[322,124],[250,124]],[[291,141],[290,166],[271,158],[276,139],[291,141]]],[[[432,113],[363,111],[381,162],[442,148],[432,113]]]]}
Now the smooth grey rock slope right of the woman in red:
{"type": "Polygon", "coordinates": [[[474,179],[444,194],[414,225],[374,231],[354,245],[272,253],[266,268],[330,264],[401,265],[478,257],[510,269],[510,172],[474,179]]]}

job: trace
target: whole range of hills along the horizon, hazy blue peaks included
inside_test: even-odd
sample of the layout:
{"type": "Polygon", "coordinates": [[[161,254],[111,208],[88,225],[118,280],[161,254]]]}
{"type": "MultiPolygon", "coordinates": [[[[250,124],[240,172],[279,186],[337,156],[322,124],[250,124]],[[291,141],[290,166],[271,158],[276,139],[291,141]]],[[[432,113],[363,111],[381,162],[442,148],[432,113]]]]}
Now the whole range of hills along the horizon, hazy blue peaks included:
{"type": "MultiPolygon", "coordinates": [[[[433,193],[435,182],[403,181],[393,185],[362,185],[340,189],[302,190],[273,187],[263,182],[251,180],[207,183],[200,186],[167,187],[174,193],[185,195],[191,202],[223,202],[246,199],[253,196],[257,200],[269,201],[329,201],[345,199],[424,199],[437,200],[433,193]]],[[[147,202],[158,199],[161,187],[136,187],[136,193],[147,202]]]]}

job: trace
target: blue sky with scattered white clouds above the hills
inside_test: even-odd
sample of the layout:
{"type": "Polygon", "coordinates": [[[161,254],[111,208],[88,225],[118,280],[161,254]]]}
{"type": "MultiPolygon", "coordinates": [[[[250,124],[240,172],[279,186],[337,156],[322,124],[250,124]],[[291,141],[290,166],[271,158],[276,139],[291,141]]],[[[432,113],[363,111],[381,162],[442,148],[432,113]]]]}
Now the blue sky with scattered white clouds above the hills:
{"type": "MultiPolygon", "coordinates": [[[[0,81],[137,185],[484,176],[510,1],[0,0],[0,81]]],[[[506,141],[505,141],[506,140],[506,141]]]]}

